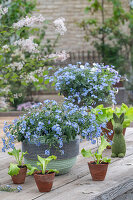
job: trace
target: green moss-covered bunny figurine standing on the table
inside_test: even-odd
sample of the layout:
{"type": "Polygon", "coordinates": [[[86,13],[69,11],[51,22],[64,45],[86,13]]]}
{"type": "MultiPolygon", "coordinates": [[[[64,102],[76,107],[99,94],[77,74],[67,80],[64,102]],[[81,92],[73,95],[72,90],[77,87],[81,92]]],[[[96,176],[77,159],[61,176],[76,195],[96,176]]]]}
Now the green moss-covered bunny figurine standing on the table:
{"type": "Polygon", "coordinates": [[[126,153],[126,143],[123,136],[123,121],[124,121],[124,113],[121,114],[120,118],[113,113],[113,129],[114,129],[114,136],[113,136],[113,144],[112,144],[112,155],[111,157],[119,157],[123,158],[126,153]]]}

